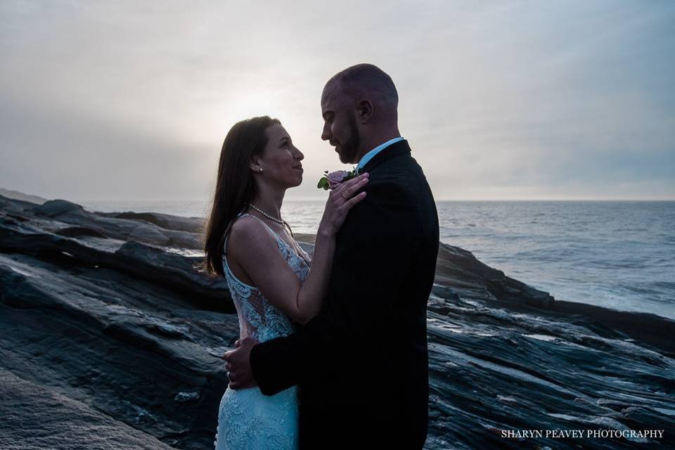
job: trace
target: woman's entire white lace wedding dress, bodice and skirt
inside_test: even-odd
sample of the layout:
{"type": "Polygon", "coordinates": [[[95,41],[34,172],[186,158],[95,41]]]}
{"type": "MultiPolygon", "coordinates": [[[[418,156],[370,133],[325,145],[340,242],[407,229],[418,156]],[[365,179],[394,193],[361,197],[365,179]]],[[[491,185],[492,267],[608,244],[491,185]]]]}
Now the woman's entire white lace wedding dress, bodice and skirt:
{"type": "MultiPolygon", "coordinates": [[[[240,214],[243,215],[250,214],[240,214]]],[[[302,252],[304,258],[298,255],[285,240],[261,222],[276,238],[279,251],[297,278],[304,282],[309,273],[307,253],[302,252]]],[[[227,240],[225,248],[226,245],[227,240]]],[[[241,338],[250,337],[264,342],[293,333],[293,322],[288,316],[269,303],[257,288],[238,280],[230,270],[225,255],[223,268],[237,309],[241,338]]],[[[297,412],[297,386],[271,397],[262,394],[258,387],[227,389],[218,411],[216,450],[297,449],[297,412]]]]}

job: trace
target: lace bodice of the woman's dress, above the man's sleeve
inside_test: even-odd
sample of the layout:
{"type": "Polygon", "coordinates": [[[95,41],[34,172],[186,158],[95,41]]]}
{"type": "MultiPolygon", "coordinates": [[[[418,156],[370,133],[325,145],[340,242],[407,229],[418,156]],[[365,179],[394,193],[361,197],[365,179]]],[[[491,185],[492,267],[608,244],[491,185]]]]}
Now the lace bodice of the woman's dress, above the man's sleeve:
{"type": "MultiPolygon", "coordinates": [[[[238,217],[241,216],[250,216],[250,214],[239,214],[238,217]]],[[[303,283],[307,278],[307,274],[309,274],[309,265],[306,262],[306,260],[309,261],[307,253],[300,249],[304,256],[303,259],[285,240],[267,226],[264,221],[257,217],[255,219],[259,220],[274,235],[281,255],[288,262],[288,266],[293,269],[297,278],[300,279],[300,283],[303,283]]],[[[229,264],[227,264],[226,248],[227,238],[225,239],[223,248],[223,269],[230,295],[237,309],[240,337],[249,337],[258,342],[264,342],[293,333],[293,322],[283,311],[275,307],[274,304],[271,304],[255,286],[240,281],[232,273],[229,264]]]]}

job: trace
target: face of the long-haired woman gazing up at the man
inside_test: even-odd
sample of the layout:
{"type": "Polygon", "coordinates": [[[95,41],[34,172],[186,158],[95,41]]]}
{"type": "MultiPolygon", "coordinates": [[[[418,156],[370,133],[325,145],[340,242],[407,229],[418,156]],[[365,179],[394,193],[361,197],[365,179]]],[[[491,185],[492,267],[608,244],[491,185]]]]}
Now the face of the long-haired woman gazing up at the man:
{"type": "MultiPolygon", "coordinates": [[[[281,188],[293,188],[302,183],[302,163],[304,155],[290,140],[288,132],[278,124],[265,130],[267,146],[258,158],[265,181],[281,188]]],[[[254,169],[255,172],[255,169],[254,169]]]]}

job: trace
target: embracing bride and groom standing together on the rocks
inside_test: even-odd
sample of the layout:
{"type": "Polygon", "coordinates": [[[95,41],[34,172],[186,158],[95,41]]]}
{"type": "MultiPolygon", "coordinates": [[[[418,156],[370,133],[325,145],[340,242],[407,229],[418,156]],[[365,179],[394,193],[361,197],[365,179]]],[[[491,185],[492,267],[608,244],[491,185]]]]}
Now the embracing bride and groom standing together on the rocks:
{"type": "Polygon", "coordinates": [[[227,280],[240,339],[223,356],[217,450],[423,447],[439,230],[397,105],[374,65],[326,83],[321,139],[357,175],[331,183],[311,260],[281,219],[304,155],[269,117],[227,134],[205,252],[227,280]]]}

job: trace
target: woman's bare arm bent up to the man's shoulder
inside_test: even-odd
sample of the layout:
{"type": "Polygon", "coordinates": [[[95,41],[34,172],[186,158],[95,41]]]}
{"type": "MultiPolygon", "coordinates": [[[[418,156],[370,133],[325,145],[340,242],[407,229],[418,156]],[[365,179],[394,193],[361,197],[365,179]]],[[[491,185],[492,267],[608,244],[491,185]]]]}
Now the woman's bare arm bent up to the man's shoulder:
{"type": "Polygon", "coordinates": [[[364,192],[353,195],[367,181],[368,176],[364,174],[330,192],[316,233],[311,268],[304,283],[300,283],[279,252],[276,238],[251,217],[242,217],[233,225],[228,239],[229,261],[241,266],[269,302],[294,321],[306,323],[319,312],[326,295],[335,253],[335,233],[345,221],[347,212],[365,198],[364,192]]]}

